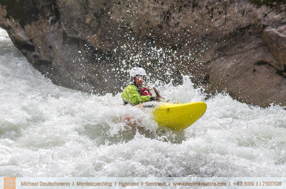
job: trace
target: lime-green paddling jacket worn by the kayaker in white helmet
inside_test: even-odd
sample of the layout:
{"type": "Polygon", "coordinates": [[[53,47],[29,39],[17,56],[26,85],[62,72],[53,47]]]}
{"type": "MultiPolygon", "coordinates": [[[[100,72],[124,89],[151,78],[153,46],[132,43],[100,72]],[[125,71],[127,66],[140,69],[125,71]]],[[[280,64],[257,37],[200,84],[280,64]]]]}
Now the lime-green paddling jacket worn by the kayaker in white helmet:
{"type": "Polygon", "coordinates": [[[150,101],[150,96],[141,96],[139,90],[134,85],[128,85],[122,92],[121,97],[124,101],[137,105],[142,102],[150,101]]]}

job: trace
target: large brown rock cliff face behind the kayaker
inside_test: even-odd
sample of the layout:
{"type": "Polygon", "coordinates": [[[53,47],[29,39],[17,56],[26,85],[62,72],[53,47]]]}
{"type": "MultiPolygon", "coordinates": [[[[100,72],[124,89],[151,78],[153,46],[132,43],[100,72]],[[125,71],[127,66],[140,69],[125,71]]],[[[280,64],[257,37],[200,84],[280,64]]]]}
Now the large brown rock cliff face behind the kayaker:
{"type": "Polygon", "coordinates": [[[0,27],[53,83],[121,91],[141,63],[156,79],[181,74],[209,94],[286,105],[284,1],[0,0],[0,27]]]}

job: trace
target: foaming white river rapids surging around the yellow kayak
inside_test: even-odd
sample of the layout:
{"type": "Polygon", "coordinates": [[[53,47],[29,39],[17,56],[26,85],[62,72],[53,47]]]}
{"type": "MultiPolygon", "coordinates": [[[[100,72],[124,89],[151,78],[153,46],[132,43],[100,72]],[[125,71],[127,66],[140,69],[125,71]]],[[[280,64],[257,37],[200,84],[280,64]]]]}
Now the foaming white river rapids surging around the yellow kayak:
{"type": "Polygon", "coordinates": [[[161,128],[120,93],[52,84],[0,29],[0,175],[285,177],[285,107],[207,98],[191,80],[157,89],[170,102],[204,101],[206,113],[184,131],[161,128]]]}

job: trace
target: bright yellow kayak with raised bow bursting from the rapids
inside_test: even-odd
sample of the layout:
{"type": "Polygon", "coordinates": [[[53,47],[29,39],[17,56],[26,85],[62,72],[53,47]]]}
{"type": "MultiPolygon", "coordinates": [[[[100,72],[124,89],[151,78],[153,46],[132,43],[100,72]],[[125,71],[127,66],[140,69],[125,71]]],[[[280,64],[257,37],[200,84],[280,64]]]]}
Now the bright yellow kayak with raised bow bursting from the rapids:
{"type": "Polygon", "coordinates": [[[184,130],[195,121],[200,119],[206,112],[206,103],[165,103],[158,101],[149,101],[136,105],[141,108],[152,108],[154,111],[154,120],[160,126],[170,127],[175,130],[184,130]]]}

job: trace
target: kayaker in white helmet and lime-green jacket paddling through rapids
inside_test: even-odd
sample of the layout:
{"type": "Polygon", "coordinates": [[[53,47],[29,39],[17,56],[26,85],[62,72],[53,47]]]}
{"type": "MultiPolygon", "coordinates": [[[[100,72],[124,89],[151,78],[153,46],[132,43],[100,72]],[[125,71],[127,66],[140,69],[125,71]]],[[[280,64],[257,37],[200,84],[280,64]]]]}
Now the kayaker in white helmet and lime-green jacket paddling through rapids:
{"type": "Polygon", "coordinates": [[[142,102],[159,100],[157,95],[152,96],[150,89],[142,86],[147,74],[140,64],[132,68],[129,74],[132,84],[128,85],[121,94],[124,104],[137,105],[142,102]]]}

